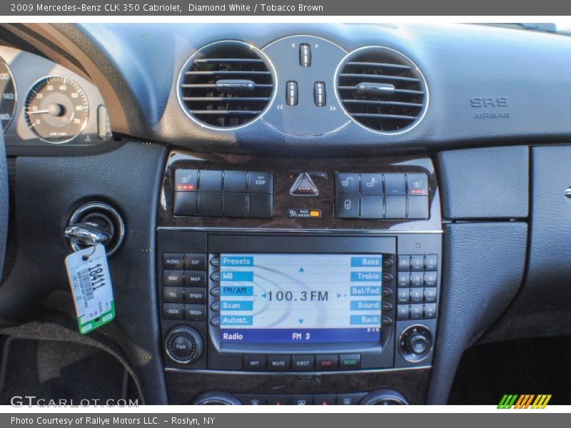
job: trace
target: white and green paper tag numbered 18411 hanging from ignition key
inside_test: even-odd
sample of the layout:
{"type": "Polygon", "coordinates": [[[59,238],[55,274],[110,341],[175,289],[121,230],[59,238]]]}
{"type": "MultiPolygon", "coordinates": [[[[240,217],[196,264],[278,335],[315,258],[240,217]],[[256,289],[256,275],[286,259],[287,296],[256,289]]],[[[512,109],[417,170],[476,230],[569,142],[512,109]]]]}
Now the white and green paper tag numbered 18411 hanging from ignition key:
{"type": "Polygon", "coordinates": [[[71,294],[82,335],[115,318],[113,287],[103,245],[76,251],[66,257],[71,294]]]}

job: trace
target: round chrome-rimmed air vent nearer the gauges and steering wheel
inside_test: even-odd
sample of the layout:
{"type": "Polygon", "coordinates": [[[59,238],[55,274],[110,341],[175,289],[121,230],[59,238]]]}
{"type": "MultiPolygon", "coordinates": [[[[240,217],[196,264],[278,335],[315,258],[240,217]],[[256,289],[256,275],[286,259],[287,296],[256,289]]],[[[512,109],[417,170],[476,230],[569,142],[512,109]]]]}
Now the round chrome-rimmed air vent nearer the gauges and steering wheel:
{"type": "Polygon", "coordinates": [[[178,96],[188,116],[202,126],[238,128],[270,106],[274,76],[259,49],[242,41],[218,41],[188,58],[178,78],[178,96]]]}

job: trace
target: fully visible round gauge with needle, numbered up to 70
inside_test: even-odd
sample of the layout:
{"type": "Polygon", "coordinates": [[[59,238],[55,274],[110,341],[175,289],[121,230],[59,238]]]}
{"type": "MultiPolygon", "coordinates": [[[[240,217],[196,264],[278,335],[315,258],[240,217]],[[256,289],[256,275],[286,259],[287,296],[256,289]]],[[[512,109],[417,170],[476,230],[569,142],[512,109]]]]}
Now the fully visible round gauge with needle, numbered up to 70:
{"type": "Polygon", "coordinates": [[[69,78],[50,76],[36,82],[26,96],[26,122],[39,138],[66,143],[84,130],[89,105],[84,91],[69,78]]]}

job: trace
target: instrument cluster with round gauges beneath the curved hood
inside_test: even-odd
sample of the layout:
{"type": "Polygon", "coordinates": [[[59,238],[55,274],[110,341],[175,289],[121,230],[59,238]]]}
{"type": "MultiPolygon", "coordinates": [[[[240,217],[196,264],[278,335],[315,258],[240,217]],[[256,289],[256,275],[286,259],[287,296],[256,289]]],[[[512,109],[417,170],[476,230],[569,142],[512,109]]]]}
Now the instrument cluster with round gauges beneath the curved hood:
{"type": "Polygon", "coordinates": [[[0,46],[0,121],[9,153],[26,146],[96,146],[111,138],[93,83],[8,46],[0,46]]]}

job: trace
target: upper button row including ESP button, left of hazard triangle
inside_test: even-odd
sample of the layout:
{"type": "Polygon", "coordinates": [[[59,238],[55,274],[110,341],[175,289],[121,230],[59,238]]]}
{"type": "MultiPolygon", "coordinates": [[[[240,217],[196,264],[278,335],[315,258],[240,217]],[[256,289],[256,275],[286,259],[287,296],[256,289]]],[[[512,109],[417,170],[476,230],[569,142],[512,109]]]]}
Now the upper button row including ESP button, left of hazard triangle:
{"type": "Polygon", "coordinates": [[[175,192],[273,193],[273,175],[260,171],[177,169],[175,192]]]}

